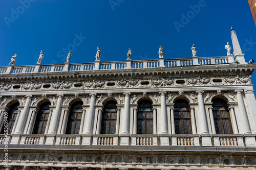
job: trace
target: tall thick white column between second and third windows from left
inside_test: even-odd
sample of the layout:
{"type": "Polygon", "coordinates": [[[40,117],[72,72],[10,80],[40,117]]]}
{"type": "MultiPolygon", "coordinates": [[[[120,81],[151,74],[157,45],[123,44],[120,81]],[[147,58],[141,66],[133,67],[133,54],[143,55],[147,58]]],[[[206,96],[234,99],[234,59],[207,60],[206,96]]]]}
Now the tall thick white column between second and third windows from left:
{"type": "Polygon", "coordinates": [[[56,105],[56,110],[54,114],[52,114],[52,119],[51,119],[51,124],[49,126],[49,134],[56,134],[57,130],[57,125],[59,122],[59,114],[60,114],[60,109],[61,109],[61,104],[62,104],[62,99],[63,99],[63,94],[58,94],[58,101],[56,105]]]}

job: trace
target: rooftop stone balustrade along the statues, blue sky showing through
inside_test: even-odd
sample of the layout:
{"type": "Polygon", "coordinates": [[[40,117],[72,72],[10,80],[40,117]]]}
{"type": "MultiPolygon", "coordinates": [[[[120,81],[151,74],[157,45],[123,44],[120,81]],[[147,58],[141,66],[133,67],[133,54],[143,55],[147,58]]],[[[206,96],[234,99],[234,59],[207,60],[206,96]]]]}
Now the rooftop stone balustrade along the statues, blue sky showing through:
{"type": "MultiPolygon", "coordinates": [[[[165,67],[176,67],[176,66],[191,66],[191,65],[209,65],[209,64],[228,64],[229,58],[224,57],[202,57],[197,60],[193,58],[184,58],[184,59],[164,59],[165,67]],[[195,63],[194,63],[195,62],[195,63]],[[198,62],[198,63],[197,63],[198,62]]],[[[231,60],[230,60],[231,61],[231,60]]],[[[160,66],[159,60],[138,60],[138,61],[117,61],[117,62],[101,62],[99,65],[95,63],[78,63],[78,64],[69,64],[69,71],[82,71],[82,70],[105,70],[105,69],[124,69],[127,66],[127,63],[131,62],[132,68],[157,68],[160,66]]],[[[10,66],[8,66],[9,68],[10,66]]],[[[130,66],[129,66],[130,67],[130,66]]],[[[37,67],[38,68],[38,67],[37,67]]],[[[39,67],[39,72],[60,72],[66,68],[65,64],[55,64],[55,65],[41,65],[39,67]]],[[[35,66],[17,66],[13,67],[11,73],[27,73],[34,72],[35,66]]],[[[0,68],[0,74],[4,74],[7,71],[7,67],[0,68]]],[[[8,72],[10,74],[10,72],[8,72]]]]}

